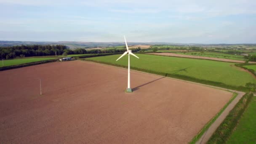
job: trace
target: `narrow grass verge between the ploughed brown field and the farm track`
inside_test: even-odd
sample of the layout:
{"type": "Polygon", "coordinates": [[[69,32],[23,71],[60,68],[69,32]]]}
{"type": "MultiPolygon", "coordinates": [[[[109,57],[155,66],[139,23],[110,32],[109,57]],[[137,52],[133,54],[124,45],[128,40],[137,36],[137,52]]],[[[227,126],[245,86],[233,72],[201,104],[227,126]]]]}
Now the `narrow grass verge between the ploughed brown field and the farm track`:
{"type": "MultiPolygon", "coordinates": [[[[230,91],[229,91],[230,92],[230,91]]],[[[189,142],[189,144],[195,144],[201,136],[208,130],[208,128],[217,120],[217,118],[222,114],[222,112],[227,108],[227,106],[237,97],[237,93],[233,93],[231,99],[224,105],[224,107],[201,129],[199,133],[189,142]]]]}

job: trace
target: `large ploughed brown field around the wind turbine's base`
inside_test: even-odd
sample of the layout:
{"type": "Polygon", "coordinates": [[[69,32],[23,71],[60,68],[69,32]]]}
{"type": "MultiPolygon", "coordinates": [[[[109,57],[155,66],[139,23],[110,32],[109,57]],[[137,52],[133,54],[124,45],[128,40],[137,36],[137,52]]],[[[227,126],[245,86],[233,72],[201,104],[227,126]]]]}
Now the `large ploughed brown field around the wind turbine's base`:
{"type": "Polygon", "coordinates": [[[6,70],[0,77],[1,144],[187,143],[232,97],[135,71],[133,93],[125,93],[126,69],[84,61],[6,70]]]}

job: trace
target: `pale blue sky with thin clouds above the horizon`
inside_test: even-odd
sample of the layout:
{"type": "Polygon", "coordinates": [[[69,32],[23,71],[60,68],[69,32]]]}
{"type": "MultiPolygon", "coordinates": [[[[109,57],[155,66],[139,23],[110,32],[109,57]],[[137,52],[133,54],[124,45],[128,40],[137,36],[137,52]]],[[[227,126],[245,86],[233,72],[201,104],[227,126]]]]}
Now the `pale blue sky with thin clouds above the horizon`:
{"type": "Polygon", "coordinates": [[[256,43],[256,0],[0,0],[0,40],[256,43]]]}

